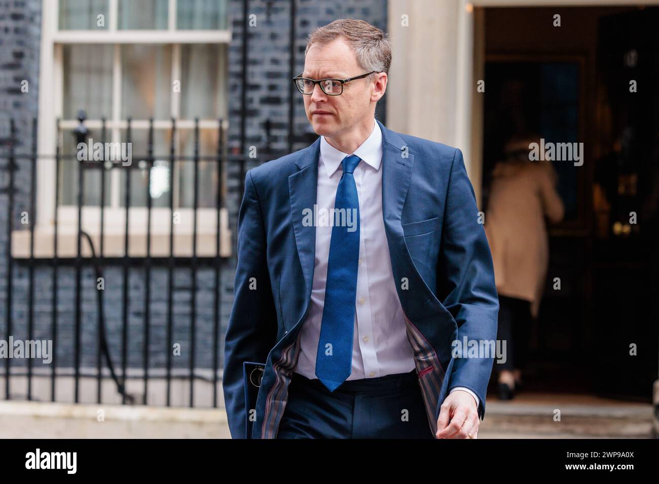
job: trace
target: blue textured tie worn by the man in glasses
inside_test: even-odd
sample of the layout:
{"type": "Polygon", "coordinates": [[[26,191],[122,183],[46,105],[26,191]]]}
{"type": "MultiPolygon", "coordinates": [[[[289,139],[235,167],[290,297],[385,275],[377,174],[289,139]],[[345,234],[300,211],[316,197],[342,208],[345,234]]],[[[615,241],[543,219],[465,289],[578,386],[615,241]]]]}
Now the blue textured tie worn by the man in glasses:
{"type": "MultiPolygon", "coordinates": [[[[345,219],[341,217],[341,220],[350,223],[335,223],[331,229],[325,303],[316,354],[316,376],[331,392],[353,371],[359,257],[359,198],[353,171],[360,161],[356,155],[341,161],[343,175],[334,202],[335,213],[337,209],[345,209],[345,219]]],[[[336,215],[332,217],[332,221],[336,219],[336,215]]]]}

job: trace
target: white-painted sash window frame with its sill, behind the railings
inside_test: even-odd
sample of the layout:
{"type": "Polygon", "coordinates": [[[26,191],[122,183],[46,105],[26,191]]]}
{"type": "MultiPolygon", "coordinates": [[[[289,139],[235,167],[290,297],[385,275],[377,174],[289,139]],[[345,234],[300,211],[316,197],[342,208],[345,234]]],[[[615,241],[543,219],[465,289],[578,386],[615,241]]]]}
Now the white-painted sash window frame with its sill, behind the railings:
{"type": "MultiPolygon", "coordinates": [[[[111,134],[112,142],[121,140],[121,130],[127,127],[127,121],[121,119],[121,45],[148,43],[154,45],[172,46],[172,78],[180,79],[181,44],[229,44],[230,30],[177,30],[177,0],[169,0],[166,30],[118,30],[119,0],[109,0],[108,28],[105,30],[59,30],[59,0],[42,0],[42,31],[40,50],[40,95],[38,113],[38,153],[54,153],[57,144],[57,119],[63,117],[63,51],[69,44],[102,43],[114,45],[112,109],[111,118],[107,119],[106,127],[111,134]]],[[[227,22],[227,26],[228,26],[227,22]]],[[[228,49],[227,49],[228,52],[228,49]]],[[[228,71],[223,72],[228,80],[228,71]]],[[[177,130],[192,130],[194,121],[178,121],[180,113],[179,93],[171,93],[171,117],[177,119],[177,130]]],[[[62,132],[72,130],[77,121],[61,121],[62,132]]],[[[85,122],[88,128],[100,128],[99,120],[85,122]]],[[[148,121],[135,120],[132,128],[146,129],[148,121]]],[[[225,132],[229,123],[225,119],[225,132]]],[[[171,128],[171,121],[154,121],[154,130],[171,128]]],[[[201,119],[201,129],[219,128],[217,120],[201,119]]],[[[53,257],[53,227],[55,222],[55,207],[57,207],[58,257],[76,255],[76,240],[78,230],[78,211],[76,205],[60,205],[55,203],[55,163],[54,157],[38,157],[37,159],[37,214],[35,226],[35,256],[53,257]]],[[[125,230],[125,207],[119,206],[120,176],[118,170],[111,171],[110,206],[104,208],[104,254],[106,257],[124,255],[123,238],[125,230]]],[[[171,176],[171,193],[177,193],[174,184],[177,176],[171,176]]],[[[224,180],[221,180],[225,188],[224,180]]],[[[175,200],[175,206],[177,200],[175,200]]],[[[175,225],[175,252],[177,257],[192,255],[191,235],[194,209],[175,208],[179,213],[181,223],[175,225]]],[[[129,209],[129,255],[140,257],[146,255],[146,207],[130,207],[129,209]]],[[[169,255],[169,208],[152,207],[152,256],[169,255]]],[[[197,210],[197,255],[215,255],[215,233],[217,227],[217,211],[214,208],[198,208],[197,210]]],[[[100,207],[85,205],[82,209],[82,228],[92,236],[92,240],[100,237],[100,207]]],[[[14,257],[29,257],[29,232],[16,230],[12,234],[14,257]]],[[[95,245],[98,240],[95,241],[95,245]]],[[[231,232],[228,228],[228,212],[226,208],[220,211],[220,254],[231,255],[231,232]]],[[[90,251],[83,243],[82,255],[89,257],[90,251]]],[[[98,250],[98,245],[96,245],[98,250]]]]}

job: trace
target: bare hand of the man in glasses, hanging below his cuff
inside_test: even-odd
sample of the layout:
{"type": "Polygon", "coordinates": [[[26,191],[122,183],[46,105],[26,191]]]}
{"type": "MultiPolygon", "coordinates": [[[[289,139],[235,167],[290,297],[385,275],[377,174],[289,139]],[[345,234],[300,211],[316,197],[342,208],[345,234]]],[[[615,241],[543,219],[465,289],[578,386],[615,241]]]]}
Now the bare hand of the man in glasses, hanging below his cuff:
{"type": "Polygon", "coordinates": [[[449,393],[440,407],[437,419],[438,439],[478,439],[478,408],[476,400],[464,390],[449,393]]]}

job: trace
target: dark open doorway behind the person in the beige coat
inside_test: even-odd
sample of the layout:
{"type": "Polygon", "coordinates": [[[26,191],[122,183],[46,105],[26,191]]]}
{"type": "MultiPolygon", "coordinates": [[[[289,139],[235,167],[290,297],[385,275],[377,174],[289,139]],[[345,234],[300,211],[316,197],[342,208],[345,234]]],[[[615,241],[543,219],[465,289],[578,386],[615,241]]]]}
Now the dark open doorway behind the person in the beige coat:
{"type": "Polygon", "coordinates": [[[487,8],[484,18],[485,211],[511,138],[583,143],[581,160],[552,161],[565,218],[548,227],[525,387],[649,401],[659,354],[659,8],[487,8]]]}

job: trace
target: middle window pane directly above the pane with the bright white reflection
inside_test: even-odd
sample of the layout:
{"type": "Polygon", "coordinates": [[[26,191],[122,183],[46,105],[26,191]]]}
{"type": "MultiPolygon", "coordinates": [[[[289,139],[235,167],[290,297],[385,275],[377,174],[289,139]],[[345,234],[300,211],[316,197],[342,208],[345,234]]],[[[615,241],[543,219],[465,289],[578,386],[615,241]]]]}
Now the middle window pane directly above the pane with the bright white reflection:
{"type": "Polygon", "coordinates": [[[121,46],[121,117],[171,119],[171,47],[121,46]]]}

